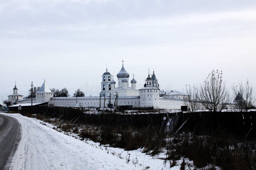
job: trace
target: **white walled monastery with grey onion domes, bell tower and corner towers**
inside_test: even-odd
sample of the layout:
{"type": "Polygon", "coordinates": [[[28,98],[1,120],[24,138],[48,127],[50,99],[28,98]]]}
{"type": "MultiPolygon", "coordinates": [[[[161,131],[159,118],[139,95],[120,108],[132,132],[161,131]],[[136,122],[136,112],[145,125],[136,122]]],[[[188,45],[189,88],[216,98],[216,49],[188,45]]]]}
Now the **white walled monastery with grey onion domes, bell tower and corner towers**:
{"type": "MultiPolygon", "coordinates": [[[[106,72],[104,72],[101,77],[101,92],[99,96],[86,97],[53,97],[51,89],[44,81],[41,88],[36,92],[36,98],[33,98],[33,103],[48,102],[48,106],[50,107],[74,107],[79,104],[80,107],[87,108],[117,107],[127,109],[150,108],[180,110],[183,105],[183,97],[186,97],[185,94],[176,90],[160,90],[154,71],[151,76],[148,73],[144,87],[141,89],[136,89],[137,81],[134,79],[134,75],[132,80],[129,81],[130,74],[125,70],[124,63],[119,73],[116,74],[116,77],[117,82],[114,80],[113,75],[108,72],[108,69],[106,69],[106,72]]],[[[14,91],[13,95],[16,94],[17,91],[14,91]]],[[[31,103],[31,98],[21,99],[18,97],[18,100],[15,100],[15,102],[18,104],[31,103]]]]}

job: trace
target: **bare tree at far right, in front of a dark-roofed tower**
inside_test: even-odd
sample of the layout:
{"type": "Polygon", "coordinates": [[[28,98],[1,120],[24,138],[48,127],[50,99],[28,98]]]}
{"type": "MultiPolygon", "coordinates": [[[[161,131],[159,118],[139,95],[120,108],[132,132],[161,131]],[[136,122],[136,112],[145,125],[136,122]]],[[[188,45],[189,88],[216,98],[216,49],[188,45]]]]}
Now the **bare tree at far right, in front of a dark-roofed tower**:
{"type": "Polygon", "coordinates": [[[250,107],[255,103],[255,97],[252,96],[252,84],[247,79],[246,83],[238,82],[238,85],[234,83],[231,85],[232,96],[230,103],[232,109],[239,112],[247,112],[250,107]]]}

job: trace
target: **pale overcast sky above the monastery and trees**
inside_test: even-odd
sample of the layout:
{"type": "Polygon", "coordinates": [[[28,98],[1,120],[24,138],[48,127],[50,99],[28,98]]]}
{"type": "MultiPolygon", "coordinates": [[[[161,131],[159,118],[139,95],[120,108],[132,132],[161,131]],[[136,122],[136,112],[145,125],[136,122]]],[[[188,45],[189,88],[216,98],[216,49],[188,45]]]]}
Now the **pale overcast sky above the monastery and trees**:
{"type": "Polygon", "coordinates": [[[14,81],[27,96],[44,79],[98,96],[106,63],[116,79],[122,60],[139,85],[149,68],[182,92],[219,69],[228,89],[249,78],[255,95],[255,54],[255,0],[0,0],[3,99],[14,81]]]}

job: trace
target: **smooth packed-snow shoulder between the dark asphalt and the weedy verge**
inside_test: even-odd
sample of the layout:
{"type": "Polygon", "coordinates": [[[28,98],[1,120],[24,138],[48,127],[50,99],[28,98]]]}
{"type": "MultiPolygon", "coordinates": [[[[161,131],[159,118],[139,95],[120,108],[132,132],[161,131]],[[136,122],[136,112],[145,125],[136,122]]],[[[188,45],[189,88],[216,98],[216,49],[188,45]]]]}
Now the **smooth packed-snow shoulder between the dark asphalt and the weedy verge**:
{"type": "Polygon", "coordinates": [[[21,139],[10,169],[141,169],[18,114],[4,114],[20,123],[21,139]]]}

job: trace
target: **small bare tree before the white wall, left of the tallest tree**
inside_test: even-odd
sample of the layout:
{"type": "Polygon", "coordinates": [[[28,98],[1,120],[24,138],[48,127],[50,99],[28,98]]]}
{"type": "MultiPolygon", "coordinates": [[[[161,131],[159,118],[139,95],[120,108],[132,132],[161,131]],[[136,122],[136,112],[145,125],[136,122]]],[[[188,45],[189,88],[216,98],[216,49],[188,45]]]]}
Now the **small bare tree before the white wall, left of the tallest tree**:
{"type": "Polygon", "coordinates": [[[194,85],[191,87],[189,84],[186,84],[185,90],[183,90],[187,96],[183,97],[183,104],[188,106],[189,112],[195,112],[199,109],[199,102],[197,101],[198,89],[194,85]]]}

